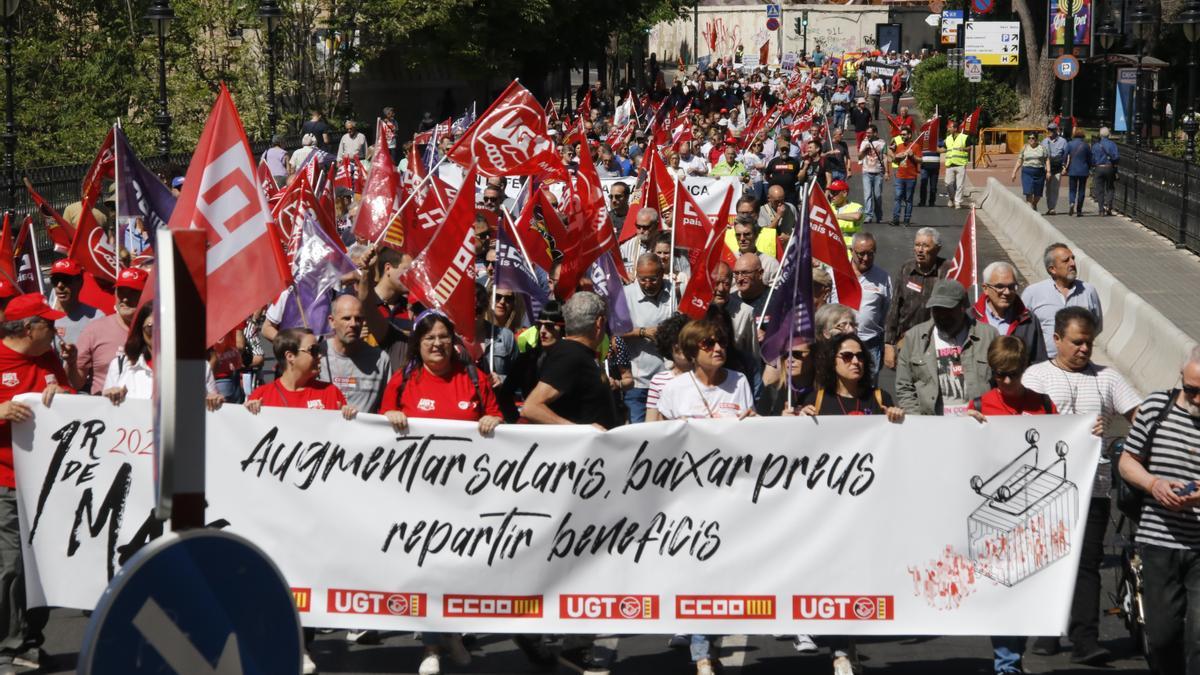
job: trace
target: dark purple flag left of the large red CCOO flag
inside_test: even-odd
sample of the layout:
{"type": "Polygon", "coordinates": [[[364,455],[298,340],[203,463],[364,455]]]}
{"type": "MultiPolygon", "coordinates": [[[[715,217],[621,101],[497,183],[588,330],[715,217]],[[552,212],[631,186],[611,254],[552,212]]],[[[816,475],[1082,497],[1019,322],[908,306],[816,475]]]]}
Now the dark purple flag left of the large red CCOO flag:
{"type": "Polygon", "coordinates": [[[154,246],[156,229],[167,227],[167,221],[175,210],[175,196],[158,180],[158,177],[138,161],[120,127],[113,131],[120,245],[136,256],[154,246]]]}

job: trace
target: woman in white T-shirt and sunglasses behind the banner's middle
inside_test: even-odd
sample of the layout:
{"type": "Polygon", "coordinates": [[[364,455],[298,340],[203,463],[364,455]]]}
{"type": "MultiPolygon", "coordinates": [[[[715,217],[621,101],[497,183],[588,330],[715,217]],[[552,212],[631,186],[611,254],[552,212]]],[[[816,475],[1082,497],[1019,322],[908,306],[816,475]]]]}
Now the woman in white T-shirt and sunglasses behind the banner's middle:
{"type": "Polygon", "coordinates": [[[684,325],[679,350],[691,370],[662,387],[658,404],[662,419],[740,419],[754,414],[746,377],[725,368],[730,334],[720,322],[702,318],[684,325]]]}

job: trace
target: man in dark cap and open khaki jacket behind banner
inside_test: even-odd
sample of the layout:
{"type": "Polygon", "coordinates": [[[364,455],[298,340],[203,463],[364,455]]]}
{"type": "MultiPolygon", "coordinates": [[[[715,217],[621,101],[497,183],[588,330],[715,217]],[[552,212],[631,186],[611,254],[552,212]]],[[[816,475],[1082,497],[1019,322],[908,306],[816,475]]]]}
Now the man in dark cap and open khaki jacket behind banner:
{"type": "Polygon", "coordinates": [[[996,329],[971,318],[967,292],[938,279],[925,301],[932,318],[904,335],[896,363],[896,405],[908,414],[958,416],[991,389],[988,348],[996,329]]]}

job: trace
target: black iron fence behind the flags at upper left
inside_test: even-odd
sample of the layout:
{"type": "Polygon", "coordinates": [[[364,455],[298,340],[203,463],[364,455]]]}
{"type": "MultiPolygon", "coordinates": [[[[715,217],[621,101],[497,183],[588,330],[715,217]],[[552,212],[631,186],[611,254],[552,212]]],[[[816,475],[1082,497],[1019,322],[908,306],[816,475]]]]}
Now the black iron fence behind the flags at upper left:
{"type": "MultiPolygon", "coordinates": [[[[284,148],[296,148],[299,145],[299,137],[288,137],[283,139],[284,148]]],[[[269,147],[270,143],[268,141],[257,141],[250,144],[254,157],[262,155],[262,153],[269,147]]],[[[174,153],[167,156],[144,156],[139,157],[139,160],[146,166],[146,168],[162,178],[163,183],[169,183],[172,178],[187,173],[187,165],[192,161],[192,154],[174,153]]],[[[12,191],[12,199],[10,201],[8,191],[6,189],[4,192],[0,192],[0,203],[4,203],[7,209],[17,214],[16,222],[12,225],[13,233],[16,234],[17,228],[20,226],[20,221],[24,220],[26,214],[36,211],[34,199],[29,196],[29,191],[25,190],[25,178],[28,178],[34,185],[34,190],[36,190],[42,198],[49,202],[50,205],[53,205],[54,209],[61,214],[68,204],[79,201],[83,179],[90,167],[90,163],[65,165],[56,167],[31,167],[28,169],[18,167],[17,185],[12,191]]],[[[0,179],[0,183],[2,183],[2,179],[0,179]]],[[[47,253],[53,247],[47,238],[46,228],[35,227],[34,237],[37,240],[37,250],[41,253],[47,253]]],[[[48,261],[49,258],[43,255],[42,259],[48,261]]]]}

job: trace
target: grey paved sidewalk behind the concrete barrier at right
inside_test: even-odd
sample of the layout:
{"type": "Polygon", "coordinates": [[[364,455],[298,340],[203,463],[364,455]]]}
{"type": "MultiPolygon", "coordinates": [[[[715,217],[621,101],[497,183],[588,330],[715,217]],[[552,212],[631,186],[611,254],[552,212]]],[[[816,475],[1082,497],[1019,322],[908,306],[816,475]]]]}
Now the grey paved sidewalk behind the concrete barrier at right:
{"type": "MultiPolygon", "coordinates": [[[[995,178],[1020,196],[1020,177],[1016,183],[1010,181],[1015,155],[992,155],[992,160],[997,166],[968,172],[971,184],[983,187],[989,178],[995,178]]],[[[1097,215],[1096,202],[1090,197],[1084,203],[1082,217],[1064,215],[1067,198],[1067,180],[1063,179],[1056,209],[1060,215],[1044,215],[1044,198],[1038,211],[1180,330],[1200,341],[1200,293],[1196,291],[1200,288],[1200,257],[1176,249],[1166,238],[1128,217],[1097,215]]]]}

